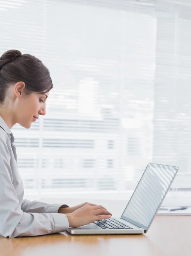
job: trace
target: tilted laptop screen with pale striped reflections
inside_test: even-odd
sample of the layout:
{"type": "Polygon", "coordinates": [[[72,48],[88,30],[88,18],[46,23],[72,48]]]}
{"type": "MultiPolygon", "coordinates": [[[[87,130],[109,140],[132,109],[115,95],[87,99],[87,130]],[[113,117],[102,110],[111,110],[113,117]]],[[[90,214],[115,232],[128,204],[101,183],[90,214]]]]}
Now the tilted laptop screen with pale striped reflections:
{"type": "Polygon", "coordinates": [[[147,231],[177,171],[176,166],[149,163],[121,218],[147,231]]]}

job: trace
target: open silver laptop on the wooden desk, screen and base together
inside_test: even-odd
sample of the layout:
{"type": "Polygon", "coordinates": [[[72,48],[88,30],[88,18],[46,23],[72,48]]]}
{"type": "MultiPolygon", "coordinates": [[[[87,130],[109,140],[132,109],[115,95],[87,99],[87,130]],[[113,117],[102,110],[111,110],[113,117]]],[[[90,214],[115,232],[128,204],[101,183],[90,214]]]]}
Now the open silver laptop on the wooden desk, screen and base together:
{"type": "Polygon", "coordinates": [[[69,227],[73,235],[147,233],[178,172],[178,167],[148,163],[120,218],[109,218],[69,227]]]}

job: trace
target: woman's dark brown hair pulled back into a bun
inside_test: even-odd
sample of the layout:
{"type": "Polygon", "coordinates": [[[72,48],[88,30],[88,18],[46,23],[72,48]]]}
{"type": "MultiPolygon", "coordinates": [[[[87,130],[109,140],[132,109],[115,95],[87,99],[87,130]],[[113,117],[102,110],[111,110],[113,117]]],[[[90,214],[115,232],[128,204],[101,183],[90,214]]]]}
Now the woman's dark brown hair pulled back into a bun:
{"type": "Polygon", "coordinates": [[[18,50],[4,52],[0,57],[0,103],[9,86],[19,81],[26,84],[26,94],[45,93],[53,88],[49,70],[38,58],[18,50]]]}

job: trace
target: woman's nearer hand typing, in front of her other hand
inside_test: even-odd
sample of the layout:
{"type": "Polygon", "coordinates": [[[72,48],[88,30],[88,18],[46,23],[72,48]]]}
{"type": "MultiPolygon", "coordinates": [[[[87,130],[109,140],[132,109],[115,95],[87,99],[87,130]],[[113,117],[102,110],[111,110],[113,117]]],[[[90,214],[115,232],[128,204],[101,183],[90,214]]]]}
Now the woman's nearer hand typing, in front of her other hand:
{"type": "Polygon", "coordinates": [[[66,214],[69,227],[80,227],[94,221],[111,218],[111,213],[101,205],[91,206],[85,204],[72,213],[66,214]]]}

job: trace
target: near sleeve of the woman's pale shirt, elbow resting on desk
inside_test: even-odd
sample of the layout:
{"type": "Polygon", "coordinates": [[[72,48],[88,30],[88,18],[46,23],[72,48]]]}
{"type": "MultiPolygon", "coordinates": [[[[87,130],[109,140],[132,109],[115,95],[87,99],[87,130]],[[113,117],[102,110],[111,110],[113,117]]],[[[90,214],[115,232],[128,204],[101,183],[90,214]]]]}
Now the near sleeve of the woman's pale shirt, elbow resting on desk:
{"type": "Polygon", "coordinates": [[[12,184],[11,173],[9,149],[6,141],[0,137],[0,236],[39,236],[67,230],[67,216],[55,213],[58,206],[50,205],[47,208],[53,213],[23,212],[12,184]]]}

